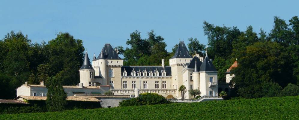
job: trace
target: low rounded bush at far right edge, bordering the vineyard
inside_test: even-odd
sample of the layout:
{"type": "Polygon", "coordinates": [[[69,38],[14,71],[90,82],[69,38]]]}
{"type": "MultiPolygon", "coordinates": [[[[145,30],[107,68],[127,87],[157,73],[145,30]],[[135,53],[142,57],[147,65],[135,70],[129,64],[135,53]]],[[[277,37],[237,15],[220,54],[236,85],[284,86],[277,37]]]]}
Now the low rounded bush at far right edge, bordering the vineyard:
{"type": "Polygon", "coordinates": [[[279,93],[279,96],[296,96],[299,95],[299,87],[292,83],[289,83],[288,86],[283,88],[283,90],[279,93]]]}

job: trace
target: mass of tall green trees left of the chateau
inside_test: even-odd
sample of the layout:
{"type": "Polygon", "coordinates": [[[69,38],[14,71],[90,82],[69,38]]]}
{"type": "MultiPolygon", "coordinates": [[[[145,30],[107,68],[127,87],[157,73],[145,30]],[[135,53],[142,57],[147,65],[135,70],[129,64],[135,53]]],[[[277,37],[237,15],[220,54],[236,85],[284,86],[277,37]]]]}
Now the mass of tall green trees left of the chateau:
{"type": "Polygon", "coordinates": [[[8,33],[0,40],[0,99],[15,98],[15,89],[25,81],[39,84],[57,74],[62,84],[77,84],[83,52],[82,40],[68,33],[58,34],[48,44],[33,44],[22,32],[8,33]]]}

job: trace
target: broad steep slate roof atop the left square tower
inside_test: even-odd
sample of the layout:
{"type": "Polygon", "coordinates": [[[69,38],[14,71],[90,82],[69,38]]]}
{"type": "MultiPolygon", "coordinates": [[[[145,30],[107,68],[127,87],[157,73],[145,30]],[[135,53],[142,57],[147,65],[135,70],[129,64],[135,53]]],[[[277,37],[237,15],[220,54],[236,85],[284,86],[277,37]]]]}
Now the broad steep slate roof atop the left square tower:
{"type": "Polygon", "coordinates": [[[121,60],[121,58],[118,57],[118,54],[110,44],[104,45],[100,55],[95,60],[99,59],[121,60]]]}

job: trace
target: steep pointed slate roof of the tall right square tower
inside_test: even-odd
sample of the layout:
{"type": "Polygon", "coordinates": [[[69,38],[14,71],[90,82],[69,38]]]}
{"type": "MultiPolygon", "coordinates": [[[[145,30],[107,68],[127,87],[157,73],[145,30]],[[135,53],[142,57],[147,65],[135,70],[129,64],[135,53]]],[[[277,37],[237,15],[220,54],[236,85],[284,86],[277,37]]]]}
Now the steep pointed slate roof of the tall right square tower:
{"type": "Polygon", "coordinates": [[[180,43],[178,44],[178,48],[175,51],[175,55],[173,55],[170,59],[172,58],[192,58],[183,41],[180,41],[180,43]]]}

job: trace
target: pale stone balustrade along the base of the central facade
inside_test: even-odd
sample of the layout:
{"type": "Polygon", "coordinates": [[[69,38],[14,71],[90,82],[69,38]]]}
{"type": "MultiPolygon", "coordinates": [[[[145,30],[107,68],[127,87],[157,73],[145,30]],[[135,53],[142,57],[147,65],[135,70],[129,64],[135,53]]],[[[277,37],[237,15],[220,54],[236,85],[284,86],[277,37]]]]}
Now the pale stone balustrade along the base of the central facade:
{"type": "MultiPolygon", "coordinates": [[[[111,89],[113,94],[134,94],[134,89],[111,89]]],[[[176,89],[140,89],[139,93],[175,94],[176,89]]]]}

